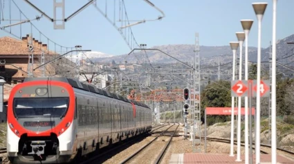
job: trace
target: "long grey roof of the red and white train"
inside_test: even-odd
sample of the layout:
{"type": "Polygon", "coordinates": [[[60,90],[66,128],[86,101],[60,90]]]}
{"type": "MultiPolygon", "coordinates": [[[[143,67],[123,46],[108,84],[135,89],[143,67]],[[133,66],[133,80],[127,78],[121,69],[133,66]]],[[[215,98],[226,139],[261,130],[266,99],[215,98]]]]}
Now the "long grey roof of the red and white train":
{"type": "Polygon", "coordinates": [[[71,79],[71,78],[66,78],[66,77],[26,77],[26,79],[24,79],[24,83],[28,82],[28,81],[62,81],[64,83],[70,84],[73,88],[77,88],[77,89],[80,89],[80,90],[85,90],[85,91],[88,91],[88,92],[93,92],[95,94],[101,94],[103,96],[108,96],[110,98],[125,101],[127,103],[132,102],[135,105],[139,105],[139,106],[142,106],[142,107],[149,108],[148,105],[146,105],[144,103],[140,103],[138,101],[127,99],[124,96],[120,96],[120,95],[118,95],[116,93],[109,92],[108,90],[102,90],[100,88],[96,88],[96,86],[93,85],[93,84],[81,83],[77,79],[71,79]]]}

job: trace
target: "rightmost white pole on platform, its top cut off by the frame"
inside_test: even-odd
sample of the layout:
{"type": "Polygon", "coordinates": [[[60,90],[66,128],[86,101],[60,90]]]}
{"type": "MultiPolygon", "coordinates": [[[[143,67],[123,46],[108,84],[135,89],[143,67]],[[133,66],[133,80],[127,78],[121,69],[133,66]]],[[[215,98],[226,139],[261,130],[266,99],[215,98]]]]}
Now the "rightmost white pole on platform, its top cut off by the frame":
{"type": "Polygon", "coordinates": [[[277,163],[277,132],[276,132],[276,22],[277,22],[277,0],[273,0],[273,52],[272,52],[272,163],[277,163]]]}

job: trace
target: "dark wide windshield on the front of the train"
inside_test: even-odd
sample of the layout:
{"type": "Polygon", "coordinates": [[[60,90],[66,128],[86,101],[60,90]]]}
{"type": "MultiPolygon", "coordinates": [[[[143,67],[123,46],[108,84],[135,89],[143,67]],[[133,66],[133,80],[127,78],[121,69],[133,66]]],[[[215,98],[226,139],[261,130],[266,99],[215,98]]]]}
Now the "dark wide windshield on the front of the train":
{"type": "Polygon", "coordinates": [[[62,117],[68,109],[68,98],[16,98],[13,110],[16,118],[62,117]]]}

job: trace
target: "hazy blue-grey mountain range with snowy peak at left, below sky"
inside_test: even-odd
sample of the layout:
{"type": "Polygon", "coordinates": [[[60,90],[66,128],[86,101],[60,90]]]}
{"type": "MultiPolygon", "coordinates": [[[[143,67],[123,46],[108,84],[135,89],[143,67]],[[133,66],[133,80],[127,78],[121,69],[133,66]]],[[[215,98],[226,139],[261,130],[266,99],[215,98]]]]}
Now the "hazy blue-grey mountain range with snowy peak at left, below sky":
{"type": "MultiPolygon", "coordinates": [[[[294,42],[294,34],[277,41],[277,59],[292,54],[293,45],[287,44],[288,42],[294,42]]],[[[245,45],[245,44],[244,44],[245,45]]],[[[269,45],[269,43],[268,43],[269,45]]],[[[190,62],[194,57],[194,47],[195,45],[190,44],[176,44],[176,45],[158,45],[154,46],[150,49],[158,49],[166,54],[158,50],[146,50],[147,57],[150,63],[176,63],[175,59],[183,62],[190,62]],[[172,56],[172,57],[169,57],[172,56]]],[[[116,63],[136,63],[138,56],[142,55],[142,52],[134,51],[131,54],[121,54],[121,55],[109,55],[104,54],[102,52],[86,52],[86,56],[91,57],[92,61],[96,61],[98,63],[111,63],[115,61],[116,63]],[[136,52],[136,53],[134,53],[136,52]]],[[[239,50],[237,51],[239,54],[239,50]]],[[[243,53],[245,52],[245,48],[243,48],[243,53]]],[[[268,61],[269,58],[270,47],[261,48],[261,61],[268,61]]],[[[201,65],[217,65],[220,63],[228,63],[232,61],[232,50],[229,45],[223,46],[200,46],[200,56],[201,56],[201,65]]],[[[256,47],[248,47],[248,60],[249,61],[257,61],[257,48],[256,47]]]]}

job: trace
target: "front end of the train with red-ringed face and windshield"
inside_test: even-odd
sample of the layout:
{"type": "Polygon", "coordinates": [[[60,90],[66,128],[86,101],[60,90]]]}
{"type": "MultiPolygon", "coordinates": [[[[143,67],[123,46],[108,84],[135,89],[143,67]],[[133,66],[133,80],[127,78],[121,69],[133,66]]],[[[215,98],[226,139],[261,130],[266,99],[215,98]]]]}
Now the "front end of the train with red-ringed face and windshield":
{"type": "Polygon", "coordinates": [[[68,83],[30,79],[8,100],[7,153],[12,163],[67,163],[73,158],[75,94],[68,83]]]}

